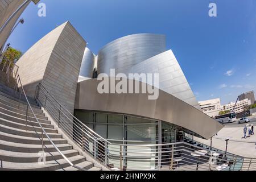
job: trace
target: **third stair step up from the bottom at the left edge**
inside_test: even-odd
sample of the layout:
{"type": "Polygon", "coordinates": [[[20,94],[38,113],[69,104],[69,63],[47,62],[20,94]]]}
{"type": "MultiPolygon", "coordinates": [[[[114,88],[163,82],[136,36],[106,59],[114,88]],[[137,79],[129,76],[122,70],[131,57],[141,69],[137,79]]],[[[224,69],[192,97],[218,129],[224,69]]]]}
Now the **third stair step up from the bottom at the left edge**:
{"type": "MultiPolygon", "coordinates": [[[[60,151],[72,150],[73,146],[70,144],[56,144],[60,151]]],[[[42,144],[22,144],[13,143],[0,140],[0,150],[12,151],[12,152],[26,152],[36,153],[42,151],[42,144]]],[[[56,148],[53,145],[44,145],[45,152],[56,152],[56,148]]]]}

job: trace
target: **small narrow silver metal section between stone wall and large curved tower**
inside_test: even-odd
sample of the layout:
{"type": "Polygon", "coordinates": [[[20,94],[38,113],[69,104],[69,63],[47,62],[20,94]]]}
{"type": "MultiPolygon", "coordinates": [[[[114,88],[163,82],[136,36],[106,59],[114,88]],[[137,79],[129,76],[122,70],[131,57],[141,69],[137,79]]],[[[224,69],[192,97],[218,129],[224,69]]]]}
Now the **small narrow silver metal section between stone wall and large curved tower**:
{"type": "Polygon", "coordinates": [[[96,56],[89,48],[85,48],[79,76],[81,78],[92,78],[96,56]]]}

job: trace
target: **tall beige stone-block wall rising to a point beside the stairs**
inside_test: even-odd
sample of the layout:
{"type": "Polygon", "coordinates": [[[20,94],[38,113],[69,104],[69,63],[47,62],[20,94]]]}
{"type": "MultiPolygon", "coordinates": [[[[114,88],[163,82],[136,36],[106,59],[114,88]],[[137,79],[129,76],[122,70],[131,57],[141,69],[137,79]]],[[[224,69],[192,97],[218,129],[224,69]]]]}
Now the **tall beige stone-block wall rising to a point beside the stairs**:
{"type": "Polygon", "coordinates": [[[28,96],[39,82],[73,113],[85,40],[65,22],[32,46],[18,61],[19,75],[28,96]]]}

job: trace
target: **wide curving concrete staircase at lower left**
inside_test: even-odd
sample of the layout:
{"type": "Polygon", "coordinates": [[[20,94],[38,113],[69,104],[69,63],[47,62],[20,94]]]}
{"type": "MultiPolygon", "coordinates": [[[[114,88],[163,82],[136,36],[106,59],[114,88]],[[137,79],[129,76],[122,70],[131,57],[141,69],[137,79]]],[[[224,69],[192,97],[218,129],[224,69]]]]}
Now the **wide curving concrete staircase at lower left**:
{"type": "MultiPolygon", "coordinates": [[[[1,85],[2,88],[5,86],[1,85]]],[[[46,164],[40,162],[40,151],[42,151],[41,132],[36,119],[32,113],[28,113],[30,121],[26,122],[26,104],[22,102],[18,109],[18,101],[15,96],[7,94],[0,86],[0,171],[1,170],[77,170],[69,164],[44,135],[44,151],[46,153],[46,164]],[[26,126],[27,124],[27,126],[26,126]]],[[[73,150],[73,146],[63,139],[58,130],[48,121],[43,111],[31,101],[31,105],[46,130],[61,152],[76,166],[86,170],[98,171],[101,168],[94,167],[94,163],[88,162],[79,151],[73,150]]]]}

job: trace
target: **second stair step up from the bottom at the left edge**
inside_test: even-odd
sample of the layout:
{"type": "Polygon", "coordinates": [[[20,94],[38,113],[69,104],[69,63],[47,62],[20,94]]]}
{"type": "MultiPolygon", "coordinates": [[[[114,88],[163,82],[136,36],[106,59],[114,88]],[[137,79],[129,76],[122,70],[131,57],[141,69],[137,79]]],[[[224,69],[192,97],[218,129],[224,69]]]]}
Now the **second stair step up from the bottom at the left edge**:
{"type": "MultiPolygon", "coordinates": [[[[77,150],[66,150],[66,151],[62,151],[62,153],[67,158],[79,155],[79,151],[77,150]]],[[[0,159],[5,162],[36,163],[38,162],[39,158],[40,158],[40,154],[38,153],[10,152],[5,150],[0,150],[0,159]]],[[[61,156],[59,152],[46,153],[46,161],[59,160],[59,159],[63,159],[63,156],[61,156]]]]}

